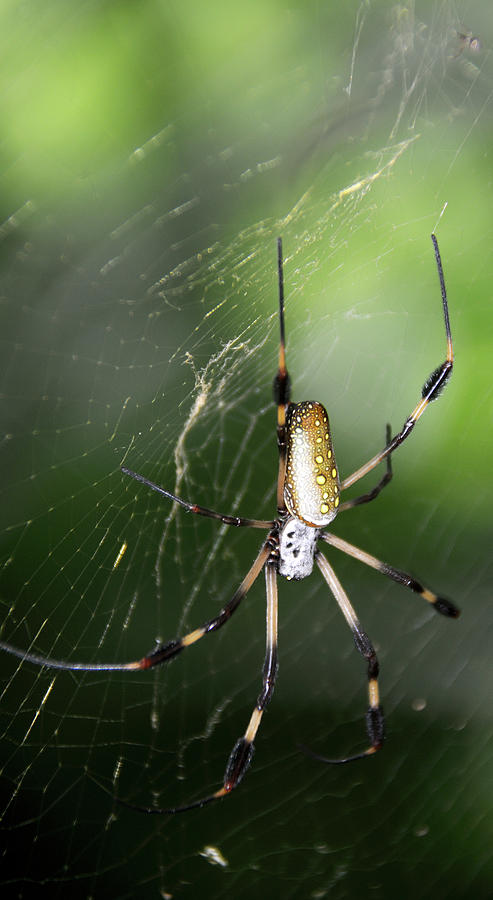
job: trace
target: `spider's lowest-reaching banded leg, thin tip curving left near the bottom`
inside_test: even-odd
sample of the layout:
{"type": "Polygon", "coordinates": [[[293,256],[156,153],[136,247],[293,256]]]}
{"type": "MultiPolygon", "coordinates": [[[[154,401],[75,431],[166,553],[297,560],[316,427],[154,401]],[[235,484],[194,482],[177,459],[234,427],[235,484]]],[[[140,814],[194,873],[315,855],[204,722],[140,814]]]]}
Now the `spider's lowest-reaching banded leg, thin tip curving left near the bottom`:
{"type": "Polygon", "coordinates": [[[268,560],[265,565],[265,585],[267,594],[267,622],[266,622],[266,650],[263,667],[263,683],[262,690],[257,697],[255,709],[250,717],[245,733],[236,741],[234,745],[224,773],[222,787],[213,794],[203,797],[201,800],[194,800],[184,806],[175,806],[170,808],[156,808],[135,806],[126,800],[119,800],[125,806],[137,809],[140,812],[153,813],[154,815],[173,815],[179,812],[188,812],[189,809],[197,809],[212,803],[213,800],[219,800],[230,794],[235,787],[238,787],[241,779],[245,775],[253,757],[255,736],[260,726],[265,708],[269,703],[276,681],[277,675],[277,571],[276,563],[273,559],[268,560]]]}

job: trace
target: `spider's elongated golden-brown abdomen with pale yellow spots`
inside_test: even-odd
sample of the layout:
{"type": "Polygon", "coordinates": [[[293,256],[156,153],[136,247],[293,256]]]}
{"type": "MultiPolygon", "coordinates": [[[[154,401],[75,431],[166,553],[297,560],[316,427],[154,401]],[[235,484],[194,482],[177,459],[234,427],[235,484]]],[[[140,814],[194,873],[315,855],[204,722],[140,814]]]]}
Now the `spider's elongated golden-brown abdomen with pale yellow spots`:
{"type": "Polygon", "coordinates": [[[284,502],[296,519],[323,528],[336,517],[340,498],[327,411],[315,400],[290,404],[286,433],[284,502]]]}

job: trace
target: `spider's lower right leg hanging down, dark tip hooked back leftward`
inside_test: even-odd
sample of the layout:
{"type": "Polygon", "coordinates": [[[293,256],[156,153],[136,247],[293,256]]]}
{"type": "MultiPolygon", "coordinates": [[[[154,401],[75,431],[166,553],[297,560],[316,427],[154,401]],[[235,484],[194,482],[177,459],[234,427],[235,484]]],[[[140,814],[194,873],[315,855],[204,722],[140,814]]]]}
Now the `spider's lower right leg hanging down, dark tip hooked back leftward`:
{"type": "MultiPolygon", "coordinates": [[[[359,653],[361,653],[361,655],[366,659],[368,663],[369,706],[366,713],[366,730],[370,739],[370,746],[366,750],[363,750],[362,753],[356,753],[354,754],[354,756],[347,756],[344,759],[326,759],[326,757],[319,756],[318,754],[313,753],[311,750],[308,750],[307,752],[310,754],[310,756],[314,756],[315,759],[319,759],[322,762],[333,764],[353,762],[353,760],[355,759],[363,759],[366,756],[372,756],[377,752],[377,750],[380,750],[380,747],[383,743],[384,718],[383,710],[380,706],[378,696],[378,659],[371,641],[366,632],[361,628],[358,617],[350,603],[349,597],[342,587],[341,582],[337,578],[337,575],[335,574],[332,566],[329,565],[325,556],[319,551],[317,551],[315,554],[315,562],[317,563],[323,577],[329,585],[330,590],[336,598],[340,609],[346,619],[346,622],[353,632],[356,649],[359,653]]],[[[306,748],[303,749],[306,750],[306,748]]]]}

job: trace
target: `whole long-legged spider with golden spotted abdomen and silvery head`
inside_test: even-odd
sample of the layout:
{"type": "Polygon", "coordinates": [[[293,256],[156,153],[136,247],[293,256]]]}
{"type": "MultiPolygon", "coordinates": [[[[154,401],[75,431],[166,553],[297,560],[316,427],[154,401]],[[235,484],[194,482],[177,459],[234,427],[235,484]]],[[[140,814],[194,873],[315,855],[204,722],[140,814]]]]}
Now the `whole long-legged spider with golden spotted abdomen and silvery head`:
{"type": "Polygon", "coordinates": [[[274,399],[277,405],[277,446],[279,452],[279,470],[277,477],[277,517],[270,521],[261,519],[245,519],[239,516],[223,515],[196,503],[188,503],[171,491],[165,490],[143,475],[122,467],[121,471],[136,481],[141,482],[153,491],[157,491],[168,500],[178,503],[188,512],[200,516],[216,519],[225,525],[240,528],[260,528],[268,532],[267,538],[262,543],[259,553],[253,565],[245,575],[240,586],[221,611],[183,637],[159,645],[152,652],[139,660],[126,663],[77,663],[66,660],[56,660],[40,656],[36,653],[13,647],[3,641],[0,649],[20,657],[24,661],[38,666],[46,666],[52,669],[65,669],[69,671],[131,671],[151,669],[178,656],[182,650],[196,644],[201,638],[213,631],[222,628],[238,609],[241,601],[246,596],[262,569],[265,572],[265,584],[267,595],[267,636],[266,654],[263,666],[263,683],[260,694],[257,697],[253,713],[244,734],[236,741],[224,773],[223,784],[214,793],[202,797],[199,800],[187,803],[184,806],[170,808],[148,808],[135,806],[125,800],[124,803],[134,809],[148,813],[172,814],[185,812],[196,807],[205,806],[213,800],[217,800],[231,793],[242,780],[253,756],[254,740],[259,729],[262,716],[274,691],[277,673],[277,576],[282,575],[288,580],[301,581],[311,574],[314,563],[320,569],[323,578],[334,595],[339,607],[353,633],[356,649],[366,660],[368,677],[369,706],[366,713],[366,729],[369,745],[360,753],[347,756],[343,759],[327,759],[316,753],[313,757],[327,763],[346,763],[356,759],[372,756],[382,746],[384,740],[384,717],[379,700],[378,691],[378,660],[371,641],[362,629],[353,606],[337,578],[332,566],[326,557],[318,549],[318,542],[324,541],[331,547],[342,550],[343,553],[355,557],[365,565],[376,569],[398,584],[409,588],[411,591],[423,597],[431,606],[444,616],[457,617],[459,610],[450,600],[437,596],[429,588],[424,587],[411,575],[395,569],[393,566],[382,562],[369,553],[365,553],[358,547],[348,543],[342,538],[336,537],[326,527],[340,512],[369,503],[374,500],[380,491],[392,478],[391,454],[409,437],[416,422],[422,416],[428,404],[435,400],[445,387],[453,366],[452,337],[447,305],[447,294],[443,276],[440,251],[437,239],[431,235],[435,251],[435,259],[440,281],[442,295],[443,318],[445,322],[445,334],[447,341],[447,356],[426,380],[421,399],[404,425],[394,437],[391,436],[390,426],[386,428],[386,443],[383,450],[373,456],[363,466],[340,480],[334,457],[332,439],[329,428],[329,418],[321,403],[314,400],[305,400],[300,403],[292,403],[290,400],[290,378],[286,367],[285,331],[284,331],[284,282],[283,282],[283,257],[281,238],[277,242],[277,262],[279,278],[279,362],[276,377],[274,379],[274,399]],[[368,493],[359,497],[346,500],[341,503],[341,493],[361,478],[376,468],[381,462],[386,461],[386,471],[378,484],[368,493]]]}

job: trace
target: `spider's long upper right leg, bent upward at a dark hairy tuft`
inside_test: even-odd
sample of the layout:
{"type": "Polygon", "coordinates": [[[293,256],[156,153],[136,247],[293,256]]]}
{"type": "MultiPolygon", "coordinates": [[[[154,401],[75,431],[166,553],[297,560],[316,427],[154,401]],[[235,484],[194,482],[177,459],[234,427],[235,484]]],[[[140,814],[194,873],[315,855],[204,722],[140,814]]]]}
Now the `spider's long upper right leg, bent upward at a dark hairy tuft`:
{"type": "Polygon", "coordinates": [[[375,466],[378,466],[382,460],[385,459],[390,453],[393,453],[394,450],[397,450],[403,441],[409,437],[411,431],[413,430],[418,419],[423,415],[426,407],[432,400],[436,400],[439,396],[440,392],[443,390],[447,381],[449,380],[452,374],[452,367],[454,364],[454,351],[452,347],[452,335],[450,331],[450,321],[448,314],[448,304],[447,304],[447,292],[445,290],[445,279],[443,277],[443,269],[442,269],[442,260],[440,258],[440,251],[438,249],[437,239],[434,234],[432,234],[431,239],[433,241],[433,247],[435,248],[435,259],[438,270],[438,278],[440,281],[440,290],[442,293],[442,306],[443,306],[443,319],[445,323],[445,335],[447,339],[447,358],[441,365],[439,365],[434,372],[431,373],[429,378],[425,381],[423,385],[423,389],[421,391],[421,400],[418,405],[415,407],[411,415],[404,422],[404,426],[395,437],[392,438],[391,441],[384,447],[380,453],[377,453],[372,459],[370,459],[364,466],[361,466],[352,475],[349,475],[343,481],[341,481],[341,490],[344,491],[346,488],[350,487],[356,481],[359,481],[360,478],[363,478],[364,475],[367,475],[368,472],[371,472],[375,466]]]}

